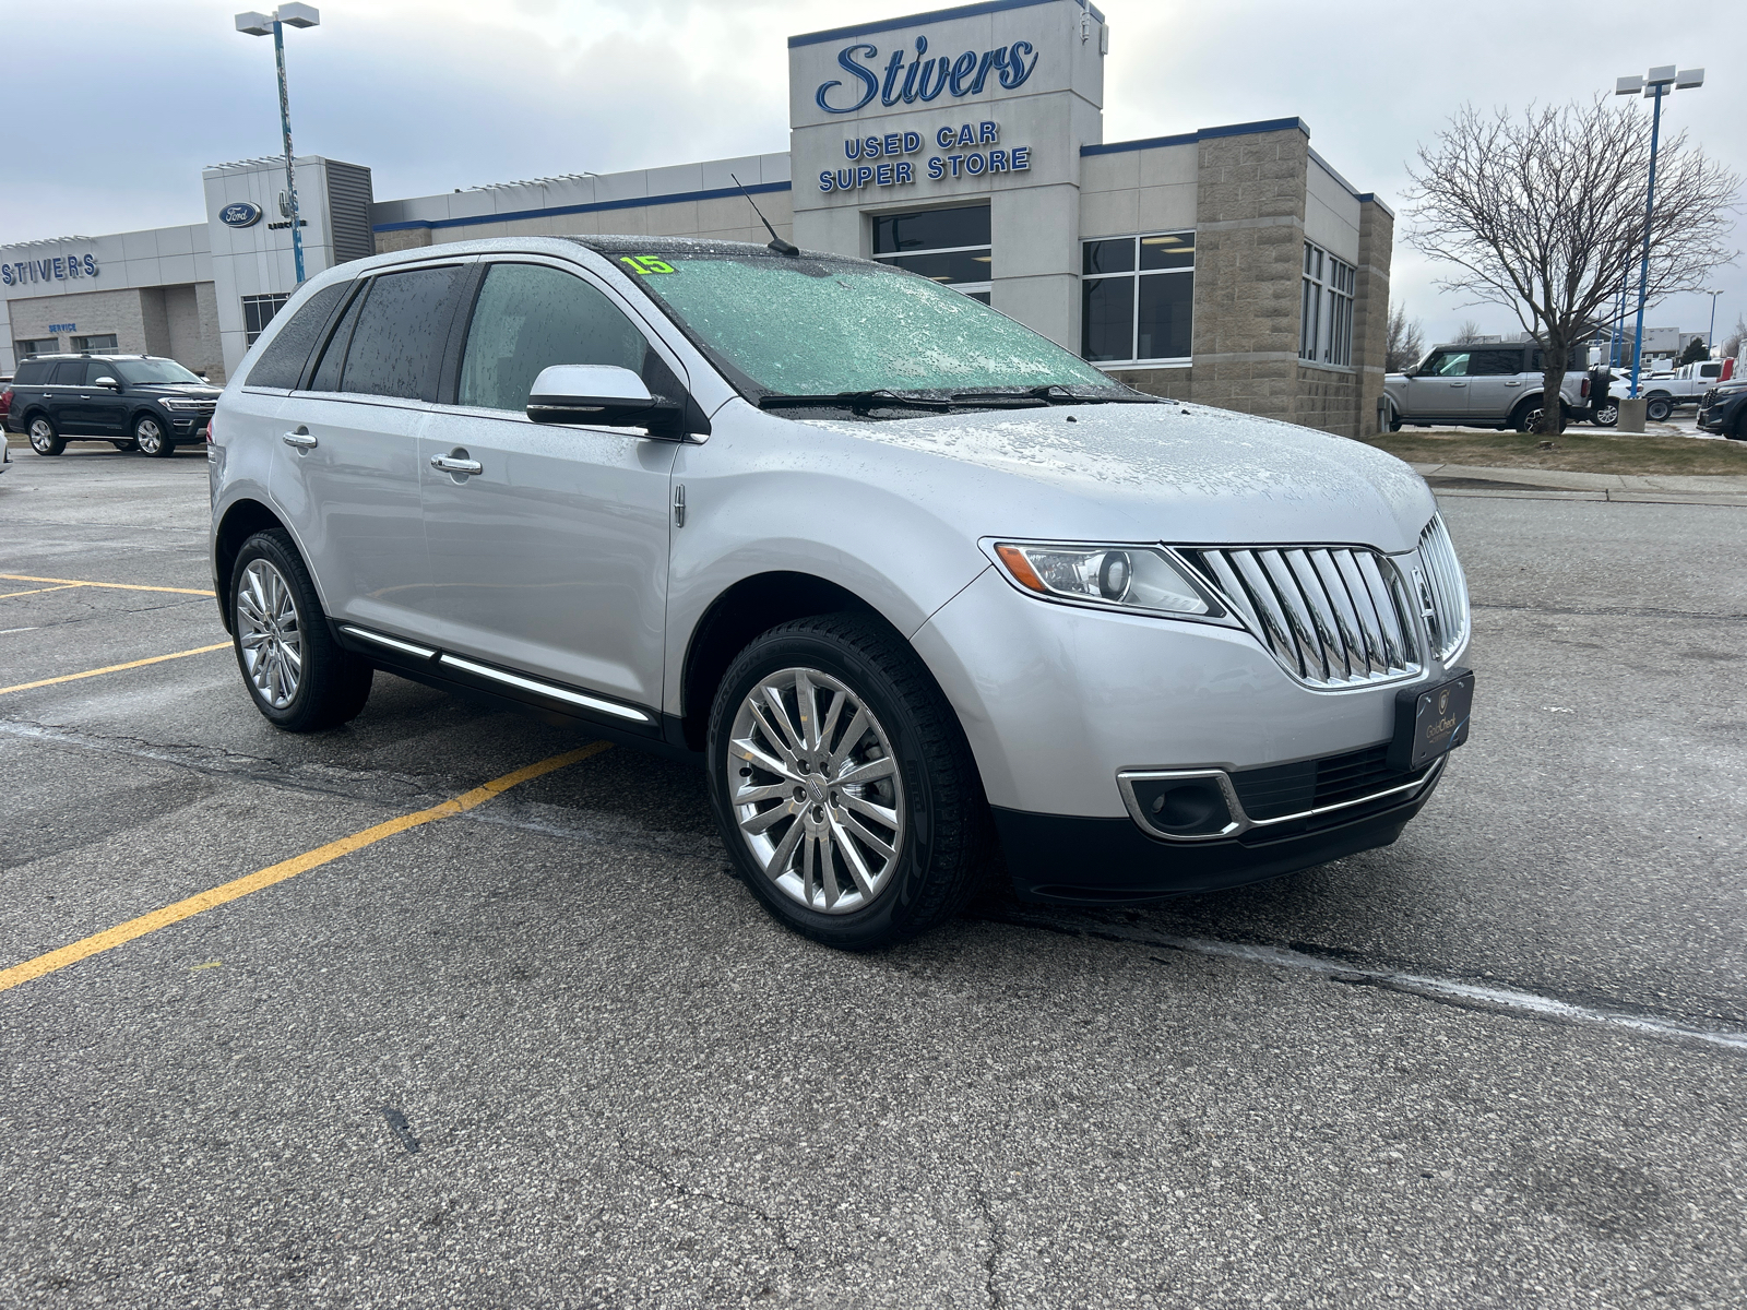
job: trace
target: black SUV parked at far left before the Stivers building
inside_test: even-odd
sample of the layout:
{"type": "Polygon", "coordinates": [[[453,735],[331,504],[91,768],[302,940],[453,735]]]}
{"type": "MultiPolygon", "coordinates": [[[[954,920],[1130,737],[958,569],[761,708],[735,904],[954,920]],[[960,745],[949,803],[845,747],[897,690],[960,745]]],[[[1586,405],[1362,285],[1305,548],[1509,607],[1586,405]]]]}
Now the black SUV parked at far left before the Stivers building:
{"type": "Polygon", "coordinates": [[[168,456],[206,440],[217,400],[217,386],[154,355],[33,355],[12,376],[5,428],[28,433],[37,454],[94,437],[117,451],[168,456]]]}

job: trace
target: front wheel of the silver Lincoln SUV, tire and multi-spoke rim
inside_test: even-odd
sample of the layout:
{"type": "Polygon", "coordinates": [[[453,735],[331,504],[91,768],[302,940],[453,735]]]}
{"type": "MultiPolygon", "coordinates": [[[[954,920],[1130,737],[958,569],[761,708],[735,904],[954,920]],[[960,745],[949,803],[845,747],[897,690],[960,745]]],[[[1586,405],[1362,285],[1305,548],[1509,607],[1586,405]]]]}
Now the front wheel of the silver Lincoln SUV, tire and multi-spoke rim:
{"type": "Polygon", "coordinates": [[[716,690],[706,751],[728,858],[814,941],[915,936],[985,868],[992,823],[970,744],[915,653],[872,618],[756,638],[716,690]]]}

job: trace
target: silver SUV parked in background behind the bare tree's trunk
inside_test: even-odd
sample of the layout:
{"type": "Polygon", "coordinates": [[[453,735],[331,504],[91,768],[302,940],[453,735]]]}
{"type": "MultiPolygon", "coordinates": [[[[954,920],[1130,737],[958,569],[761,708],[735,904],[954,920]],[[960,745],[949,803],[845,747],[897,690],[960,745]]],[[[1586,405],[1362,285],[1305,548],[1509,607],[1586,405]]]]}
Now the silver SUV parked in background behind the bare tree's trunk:
{"type": "MultiPolygon", "coordinates": [[[[1583,348],[1572,349],[1560,384],[1565,419],[1612,426],[1619,421],[1619,400],[1611,393],[1600,396],[1600,409],[1592,412],[1585,355],[1583,348]]],[[[1419,367],[1384,377],[1389,426],[1394,431],[1403,424],[1534,431],[1546,390],[1543,377],[1541,348],[1534,342],[1433,346],[1419,367]]]]}

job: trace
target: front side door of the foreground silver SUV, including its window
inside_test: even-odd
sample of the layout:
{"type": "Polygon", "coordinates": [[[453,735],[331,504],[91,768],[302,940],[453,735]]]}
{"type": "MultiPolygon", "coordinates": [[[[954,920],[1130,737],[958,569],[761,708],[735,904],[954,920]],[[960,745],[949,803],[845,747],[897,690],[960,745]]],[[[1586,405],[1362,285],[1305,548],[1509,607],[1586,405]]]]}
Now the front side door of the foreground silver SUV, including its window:
{"type": "Polygon", "coordinates": [[[444,650],[653,707],[678,445],[638,428],[531,423],[528,393],[556,363],[620,365],[655,393],[683,388],[680,362],[573,265],[489,264],[458,337],[454,403],[432,412],[421,438],[425,634],[444,650]]]}

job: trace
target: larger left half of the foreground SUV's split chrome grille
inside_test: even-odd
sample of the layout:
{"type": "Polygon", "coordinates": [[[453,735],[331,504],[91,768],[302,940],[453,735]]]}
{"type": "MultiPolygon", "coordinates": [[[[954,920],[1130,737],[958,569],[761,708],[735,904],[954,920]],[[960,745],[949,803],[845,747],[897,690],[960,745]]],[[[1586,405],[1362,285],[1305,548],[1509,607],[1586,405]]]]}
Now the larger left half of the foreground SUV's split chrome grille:
{"type": "Polygon", "coordinates": [[[1307,686],[1361,686],[1420,671],[1401,569],[1356,547],[1183,548],[1307,686]]]}

